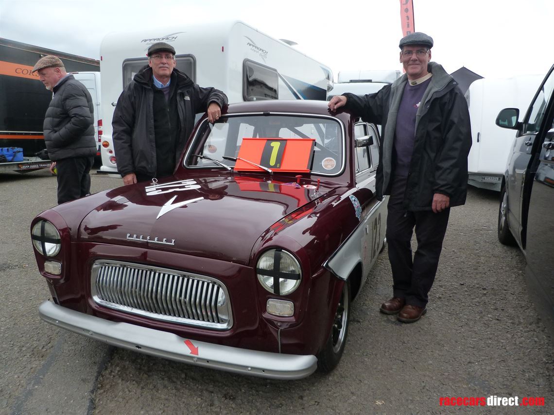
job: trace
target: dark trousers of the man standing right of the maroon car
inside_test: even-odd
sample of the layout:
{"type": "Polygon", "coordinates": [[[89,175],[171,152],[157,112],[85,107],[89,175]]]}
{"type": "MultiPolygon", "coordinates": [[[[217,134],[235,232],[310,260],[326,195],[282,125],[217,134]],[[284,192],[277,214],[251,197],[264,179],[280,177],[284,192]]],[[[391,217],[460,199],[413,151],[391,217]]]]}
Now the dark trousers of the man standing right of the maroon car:
{"type": "Polygon", "coordinates": [[[387,243],[393,295],[406,304],[425,307],[435,280],[450,209],[433,213],[402,207],[407,177],[394,177],[388,201],[387,243]],[[417,250],[412,258],[412,233],[416,227],[417,250]]]}

